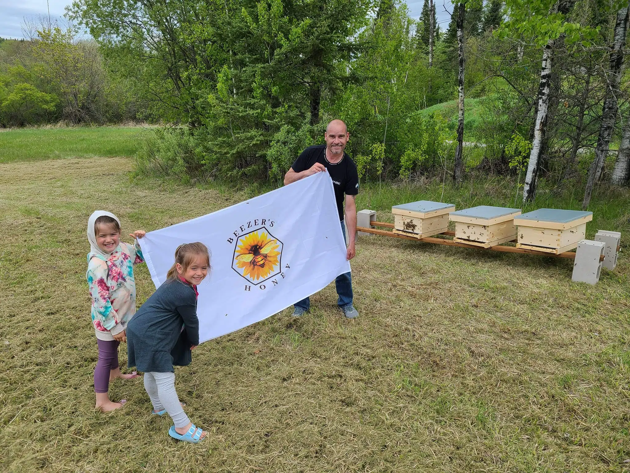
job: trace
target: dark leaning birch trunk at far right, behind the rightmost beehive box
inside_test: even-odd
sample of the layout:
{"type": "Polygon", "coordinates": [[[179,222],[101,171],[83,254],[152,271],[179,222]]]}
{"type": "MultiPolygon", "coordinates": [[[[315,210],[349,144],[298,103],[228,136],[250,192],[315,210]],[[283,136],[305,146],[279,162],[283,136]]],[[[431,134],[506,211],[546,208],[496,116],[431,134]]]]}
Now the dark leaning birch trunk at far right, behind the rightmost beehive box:
{"type": "Polygon", "coordinates": [[[629,14],[630,6],[627,4],[617,10],[617,20],[615,21],[610,50],[609,77],[606,81],[606,98],[604,99],[604,107],[602,109],[602,122],[599,127],[599,136],[597,137],[595,159],[588,169],[587,187],[584,191],[584,200],[582,201],[583,210],[588,208],[593,194],[593,187],[595,187],[595,181],[597,181],[604,168],[610,146],[610,137],[615,127],[618,109],[617,94],[619,93],[619,82],[621,81],[621,68],[624,64],[622,47],[626,43],[629,14]]]}

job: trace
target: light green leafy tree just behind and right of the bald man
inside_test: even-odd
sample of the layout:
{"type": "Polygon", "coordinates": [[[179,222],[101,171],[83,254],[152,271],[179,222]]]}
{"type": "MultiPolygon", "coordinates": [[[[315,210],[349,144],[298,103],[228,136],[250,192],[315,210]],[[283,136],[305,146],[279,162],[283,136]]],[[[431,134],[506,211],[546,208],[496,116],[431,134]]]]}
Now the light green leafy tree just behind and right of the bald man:
{"type": "MultiPolygon", "coordinates": [[[[454,90],[454,83],[445,80],[440,69],[427,67],[427,55],[416,48],[410,33],[413,23],[404,4],[396,5],[389,22],[388,30],[377,20],[360,34],[358,40],[365,49],[350,62],[355,80],[340,100],[324,107],[331,117],[347,122],[347,149],[357,162],[364,163],[369,178],[399,177],[408,149],[422,147],[422,110],[450,100],[454,90]],[[384,144],[382,159],[377,158],[381,155],[375,153],[375,144],[384,144]],[[382,167],[377,167],[381,162],[382,167]]],[[[439,164],[435,153],[427,156],[422,172],[439,164]]]]}

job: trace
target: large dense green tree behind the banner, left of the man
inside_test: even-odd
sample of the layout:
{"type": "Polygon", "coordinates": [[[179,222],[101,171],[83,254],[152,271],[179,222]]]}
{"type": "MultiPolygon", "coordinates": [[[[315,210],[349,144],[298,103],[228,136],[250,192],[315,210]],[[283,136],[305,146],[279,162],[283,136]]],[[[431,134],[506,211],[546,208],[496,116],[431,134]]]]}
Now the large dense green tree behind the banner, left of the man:
{"type": "Polygon", "coordinates": [[[266,175],[266,152],[282,126],[317,124],[323,98],[350,81],[369,0],[226,0],[103,3],[77,0],[103,47],[125,48],[163,71],[154,93],[186,122],[205,165],[233,177],[266,175]],[[157,34],[156,34],[157,32],[157,34]]]}

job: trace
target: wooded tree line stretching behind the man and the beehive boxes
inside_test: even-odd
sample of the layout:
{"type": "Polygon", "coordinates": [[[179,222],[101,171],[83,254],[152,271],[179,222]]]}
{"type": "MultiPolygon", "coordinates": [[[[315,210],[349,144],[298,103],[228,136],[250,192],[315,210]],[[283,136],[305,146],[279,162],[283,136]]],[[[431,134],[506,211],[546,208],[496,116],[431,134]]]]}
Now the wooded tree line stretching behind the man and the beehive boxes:
{"type": "MultiPolygon", "coordinates": [[[[394,0],[76,0],[71,18],[94,39],[43,28],[30,47],[50,48],[51,33],[74,51],[93,45],[110,87],[98,90],[117,90],[101,100],[176,125],[142,149],[146,172],[278,179],[334,117],[364,180],[500,173],[530,201],[542,178],[583,187],[586,207],[597,182],[629,178],[627,11],[619,0],[425,0],[415,20],[394,0]]],[[[4,110],[19,84],[0,80],[4,110]]],[[[38,96],[41,116],[96,117],[72,103],[95,87],[53,93],[47,80],[23,82],[57,97],[38,96]]]]}

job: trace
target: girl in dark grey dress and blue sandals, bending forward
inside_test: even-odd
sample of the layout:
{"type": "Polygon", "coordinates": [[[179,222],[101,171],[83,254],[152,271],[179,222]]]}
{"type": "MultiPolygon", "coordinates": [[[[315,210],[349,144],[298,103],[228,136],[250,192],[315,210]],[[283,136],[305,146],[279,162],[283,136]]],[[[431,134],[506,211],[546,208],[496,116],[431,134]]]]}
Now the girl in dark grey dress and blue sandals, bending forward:
{"type": "Polygon", "coordinates": [[[206,432],[195,427],[180,404],[173,365],[189,365],[191,350],[199,344],[197,284],[209,270],[210,255],[203,243],[180,245],[166,282],[127,324],[128,365],[144,371],[144,388],[153,413],[163,416],[168,412],[175,423],[168,434],[192,443],[203,440],[206,432]]]}

